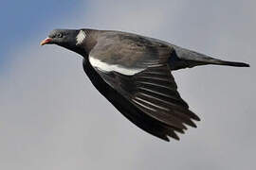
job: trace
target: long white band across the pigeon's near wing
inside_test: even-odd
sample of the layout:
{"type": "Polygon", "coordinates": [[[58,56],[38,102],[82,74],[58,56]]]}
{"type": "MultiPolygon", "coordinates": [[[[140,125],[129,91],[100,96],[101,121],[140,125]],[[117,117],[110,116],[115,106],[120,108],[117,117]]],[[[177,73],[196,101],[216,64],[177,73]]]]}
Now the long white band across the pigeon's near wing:
{"type": "Polygon", "coordinates": [[[101,61],[100,59],[95,59],[91,56],[89,56],[89,61],[93,67],[96,67],[103,72],[115,71],[115,72],[118,72],[119,74],[127,75],[127,76],[133,76],[144,70],[143,68],[126,68],[118,64],[108,64],[106,62],[101,61]]]}

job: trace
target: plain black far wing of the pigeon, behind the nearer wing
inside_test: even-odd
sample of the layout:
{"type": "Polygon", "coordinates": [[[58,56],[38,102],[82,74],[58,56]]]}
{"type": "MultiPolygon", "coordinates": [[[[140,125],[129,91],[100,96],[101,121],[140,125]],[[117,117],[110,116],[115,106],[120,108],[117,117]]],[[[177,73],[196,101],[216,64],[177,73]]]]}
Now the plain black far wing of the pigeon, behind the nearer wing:
{"type": "Polygon", "coordinates": [[[137,127],[147,131],[148,133],[169,142],[168,135],[172,135],[178,139],[177,135],[173,134],[168,126],[155,121],[152,117],[146,115],[141,110],[138,110],[124,96],[119,94],[115,89],[110,87],[101,76],[94,70],[89,61],[83,60],[83,70],[90,78],[96,89],[119,110],[128,120],[133,122],[137,127]]]}

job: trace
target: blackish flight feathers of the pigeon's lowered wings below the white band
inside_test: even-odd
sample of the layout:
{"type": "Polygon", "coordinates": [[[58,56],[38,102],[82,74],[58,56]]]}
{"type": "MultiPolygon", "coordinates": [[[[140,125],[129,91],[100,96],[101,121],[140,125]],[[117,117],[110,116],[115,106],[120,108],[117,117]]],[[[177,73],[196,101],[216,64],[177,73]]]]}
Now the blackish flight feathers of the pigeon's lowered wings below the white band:
{"type": "Polygon", "coordinates": [[[114,78],[113,81],[113,75],[105,75],[100,71],[100,76],[99,72],[86,60],[83,61],[83,69],[98,91],[126,118],[136,124],[137,127],[160,139],[169,141],[168,136],[170,136],[179,140],[175,131],[184,133],[184,130],[187,129],[184,124],[196,127],[191,119],[200,120],[191,110],[188,110],[187,103],[176,92],[174,77],[171,73],[171,76],[169,74],[164,75],[164,73],[169,73],[169,70],[163,72],[162,68],[153,68],[153,70],[147,70],[138,76],[133,76],[133,79],[131,76],[112,73],[115,78],[118,78],[114,78]],[[166,76],[173,82],[174,86],[168,85],[170,82],[166,81],[166,76]],[[150,78],[151,81],[147,78],[150,78]],[[161,81],[161,78],[164,80],[161,81]],[[117,82],[119,83],[118,90],[109,86],[109,84],[117,82]],[[127,89],[127,87],[129,88],[127,89]],[[129,93],[134,95],[128,96],[129,93]]]}

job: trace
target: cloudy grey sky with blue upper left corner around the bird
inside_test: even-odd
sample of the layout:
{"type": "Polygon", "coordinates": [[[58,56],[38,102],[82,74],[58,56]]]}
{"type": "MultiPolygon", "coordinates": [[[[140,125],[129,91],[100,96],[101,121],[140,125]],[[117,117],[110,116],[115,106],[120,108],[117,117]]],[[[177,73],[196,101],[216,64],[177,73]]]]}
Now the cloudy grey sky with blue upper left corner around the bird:
{"type": "Polygon", "coordinates": [[[0,169],[255,169],[255,0],[10,0],[0,20],[0,169]],[[77,54],[39,46],[53,28],[81,27],[134,32],[251,67],[174,72],[202,121],[166,143],[108,103],[77,54]]]}

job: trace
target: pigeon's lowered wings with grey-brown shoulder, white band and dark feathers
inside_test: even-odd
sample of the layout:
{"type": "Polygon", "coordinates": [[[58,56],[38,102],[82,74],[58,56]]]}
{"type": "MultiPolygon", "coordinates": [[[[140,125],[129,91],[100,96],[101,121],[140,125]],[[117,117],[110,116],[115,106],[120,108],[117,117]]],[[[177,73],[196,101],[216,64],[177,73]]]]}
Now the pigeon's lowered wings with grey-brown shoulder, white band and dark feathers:
{"type": "Polygon", "coordinates": [[[173,49],[136,35],[108,38],[116,40],[98,42],[83,65],[106,86],[97,89],[137,127],[166,141],[179,139],[175,131],[184,133],[185,125],[196,127],[192,119],[199,118],[180,97],[169,68],[173,49]]]}

